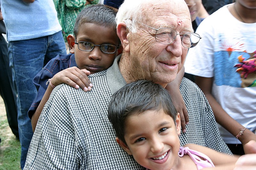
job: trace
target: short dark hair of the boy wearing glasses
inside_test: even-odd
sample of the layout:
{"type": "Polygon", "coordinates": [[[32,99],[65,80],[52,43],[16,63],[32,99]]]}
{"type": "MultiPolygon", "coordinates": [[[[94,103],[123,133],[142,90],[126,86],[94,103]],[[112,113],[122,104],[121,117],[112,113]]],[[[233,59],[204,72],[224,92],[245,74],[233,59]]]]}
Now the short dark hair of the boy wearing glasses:
{"type": "Polygon", "coordinates": [[[79,27],[84,23],[94,23],[103,26],[113,26],[116,31],[116,12],[102,5],[91,5],[84,8],[76,18],[74,35],[76,37],[79,27]]]}

